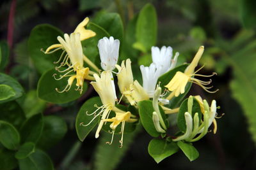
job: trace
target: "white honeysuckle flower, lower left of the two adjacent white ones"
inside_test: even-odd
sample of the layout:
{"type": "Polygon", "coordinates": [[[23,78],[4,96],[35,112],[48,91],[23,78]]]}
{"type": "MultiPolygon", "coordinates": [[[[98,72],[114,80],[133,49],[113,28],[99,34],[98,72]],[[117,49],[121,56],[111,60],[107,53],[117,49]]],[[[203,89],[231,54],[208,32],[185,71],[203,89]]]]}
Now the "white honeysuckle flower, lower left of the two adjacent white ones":
{"type": "Polygon", "coordinates": [[[145,89],[149,97],[153,97],[156,90],[157,79],[161,73],[161,67],[156,67],[156,64],[152,63],[149,67],[141,65],[140,70],[143,79],[143,89],[145,89]]]}

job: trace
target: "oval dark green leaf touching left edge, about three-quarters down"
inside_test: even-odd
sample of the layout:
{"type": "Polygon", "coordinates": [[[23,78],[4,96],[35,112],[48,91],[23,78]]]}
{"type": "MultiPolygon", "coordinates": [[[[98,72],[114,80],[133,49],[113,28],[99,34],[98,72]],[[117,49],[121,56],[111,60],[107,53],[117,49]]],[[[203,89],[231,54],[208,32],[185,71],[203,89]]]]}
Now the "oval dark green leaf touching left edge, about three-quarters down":
{"type": "Polygon", "coordinates": [[[20,134],[17,129],[3,120],[0,120],[0,142],[9,150],[17,150],[20,144],[20,134]]]}

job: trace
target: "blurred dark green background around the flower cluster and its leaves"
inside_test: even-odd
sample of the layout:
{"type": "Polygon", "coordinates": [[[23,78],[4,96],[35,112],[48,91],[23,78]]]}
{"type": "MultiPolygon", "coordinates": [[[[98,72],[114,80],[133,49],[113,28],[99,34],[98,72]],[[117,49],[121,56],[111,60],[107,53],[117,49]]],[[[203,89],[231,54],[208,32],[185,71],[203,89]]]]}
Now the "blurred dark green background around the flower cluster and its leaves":
{"type": "MultiPolygon", "coordinates": [[[[9,64],[4,72],[17,78],[24,87],[26,97],[20,102],[23,110],[32,115],[38,111],[56,115],[67,123],[64,138],[45,150],[56,169],[256,169],[255,8],[253,0],[2,0],[0,39],[1,45],[8,41],[10,48],[9,64]],[[40,73],[35,71],[27,46],[33,27],[46,23],[63,32],[72,32],[84,17],[93,20],[93,16],[104,10],[120,14],[124,34],[129,39],[127,25],[131,25],[132,18],[147,3],[156,8],[157,46],[172,46],[180,53],[180,62],[189,62],[198,47],[204,45],[200,64],[205,67],[201,73],[218,73],[212,78],[214,88],[220,89],[215,94],[207,94],[196,85],[191,89],[193,95],[200,94],[209,101],[216,99],[221,106],[219,115],[225,113],[217,120],[217,133],[209,133],[194,144],[200,157],[193,162],[179,152],[156,164],[147,152],[151,137],[142,129],[131,141],[125,136],[126,146],[121,149],[105,145],[108,134],[95,139],[91,133],[80,143],[75,129],[76,115],[84,101],[95,96],[92,87],[88,87],[81,99],[68,104],[45,104],[36,98],[40,73]],[[8,25],[10,9],[15,11],[13,26],[8,25]]],[[[129,57],[124,56],[129,55],[125,50],[120,53],[121,59],[129,57]]],[[[135,56],[138,58],[132,59],[134,62],[148,64],[147,53],[135,53],[135,56]]],[[[3,111],[8,105],[0,107],[3,111]]]]}

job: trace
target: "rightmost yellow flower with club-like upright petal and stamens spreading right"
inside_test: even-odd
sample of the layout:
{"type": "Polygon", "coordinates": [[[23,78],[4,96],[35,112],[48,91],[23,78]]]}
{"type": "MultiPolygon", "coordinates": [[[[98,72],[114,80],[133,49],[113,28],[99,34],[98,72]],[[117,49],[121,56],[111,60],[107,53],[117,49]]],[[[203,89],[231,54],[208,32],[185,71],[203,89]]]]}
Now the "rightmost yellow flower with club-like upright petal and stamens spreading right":
{"type": "Polygon", "coordinates": [[[185,87],[189,81],[192,83],[195,83],[196,85],[199,85],[200,87],[202,87],[202,89],[204,89],[205,91],[207,91],[209,93],[214,93],[214,92],[218,91],[218,90],[209,91],[208,89],[211,89],[212,87],[205,87],[205,85],[209,85],[211,83],[211,80],[210,81],[202,81],[202,80],[198,80],[197,78],[194,78],[194,76],[211,77],[216,74],[216,73],[212,73],[209,76],[205,76],[202,74],[196,74],[200,69],[202,69],[202,67],[201,67],[200,69],[195,71],[195,67],[198,65],[198,62],[199,62],[200,58],[202,57],[203,52],[204,52],[204,46],[200,46],[194,59],[192,60],[191,64],[189,64],[189,66],[186,68],[184,73],[178,71],[175,74],[175,76],[173,76],[172,80],[167,85],[165,85],[165,87],[168,88],[168,90],[172,91],[170,96],[167,97],[168,99],[172,98],[173,96],[177,97],[180,94],[184,94],[185,87]]]}

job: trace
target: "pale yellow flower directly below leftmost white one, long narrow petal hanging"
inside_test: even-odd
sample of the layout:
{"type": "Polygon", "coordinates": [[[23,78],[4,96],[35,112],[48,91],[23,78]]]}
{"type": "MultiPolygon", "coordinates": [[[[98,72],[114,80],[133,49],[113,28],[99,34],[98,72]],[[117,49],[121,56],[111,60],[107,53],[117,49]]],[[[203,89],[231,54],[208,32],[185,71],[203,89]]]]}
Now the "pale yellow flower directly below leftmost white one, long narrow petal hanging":
{"type": "MultiPolygon", "coordinates": [[[[103,106],[100,106],[100,112],[95,117],[102,115],[101,120],[108,119],[109,113],[115,108],[115,92],[112,87],[111,72],[103,71],[100,77],[97,74],[93,74],[95,81],[91,84],[95,91],[99,94],[103,106]]],[[[94,117],[94,118],[95,118],[94,117]]],[[[100,121],[95,138],[99,138],[99,132],[102,128],[103,121],[100,121]]]]}

